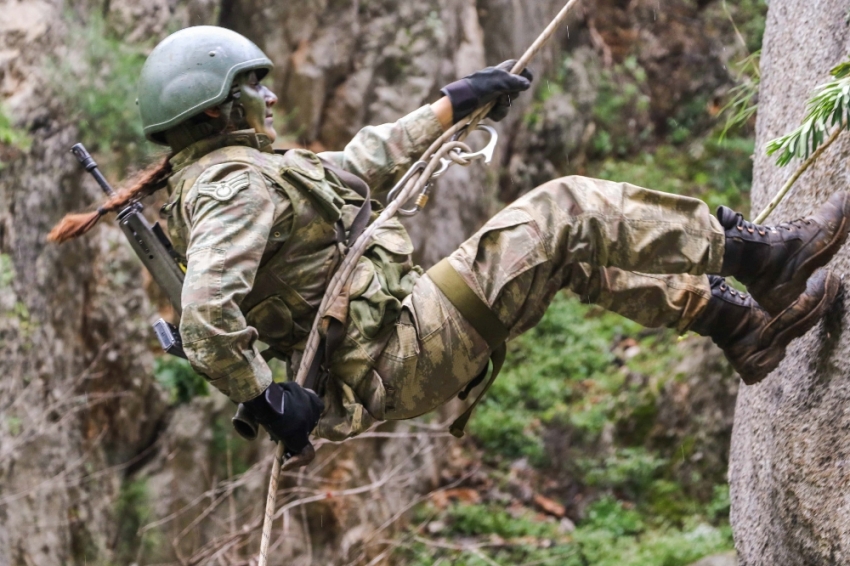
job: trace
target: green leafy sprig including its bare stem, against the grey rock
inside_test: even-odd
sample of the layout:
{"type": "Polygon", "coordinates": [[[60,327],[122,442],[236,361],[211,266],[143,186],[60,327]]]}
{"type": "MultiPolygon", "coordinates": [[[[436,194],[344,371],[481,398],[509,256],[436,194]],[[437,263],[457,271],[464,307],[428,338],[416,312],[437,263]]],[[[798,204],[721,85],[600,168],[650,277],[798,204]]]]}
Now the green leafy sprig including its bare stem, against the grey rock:
{"type": "Polygon", "coordinates": [[[850,124],[850,60],[839,63],[829,73],[832,79],[818,86],[806,104],[807,111],[803,123],[793,132],[767,144],[768,155],[779,154],[776,158],[779,167],[788,165],[795,157],[805,161],[761,211],[755,219],[757,224],[767,219],[785,199],[797,179],[850,124]]]}

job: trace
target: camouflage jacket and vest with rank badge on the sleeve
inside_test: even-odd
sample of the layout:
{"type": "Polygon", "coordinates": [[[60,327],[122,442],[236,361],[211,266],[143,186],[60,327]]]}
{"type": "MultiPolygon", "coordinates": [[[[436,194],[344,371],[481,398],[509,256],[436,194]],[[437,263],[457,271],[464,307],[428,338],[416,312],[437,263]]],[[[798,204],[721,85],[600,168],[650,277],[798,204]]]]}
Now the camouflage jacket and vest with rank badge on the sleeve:
{"type": "MultiPolygon", "coordinates": [[[[379,196],[441,133],[426,106],[364,128],[340,152],[275,153],[268,138],[249,130],[175,155],[163,211],[187,265],[180,332],[192,366],[242,402],[272,380],[258,340],[296,365],[342,257],[336,224],[347,229],[363,202],[319,157],[379,196]]],[[[346,438],[382,418],[383,384],[371,368],[420,274],[412,251],[394,221],[360,260],[336,315],[346,323],[346,339],[332,359],[319,436],[346,438]]]]}

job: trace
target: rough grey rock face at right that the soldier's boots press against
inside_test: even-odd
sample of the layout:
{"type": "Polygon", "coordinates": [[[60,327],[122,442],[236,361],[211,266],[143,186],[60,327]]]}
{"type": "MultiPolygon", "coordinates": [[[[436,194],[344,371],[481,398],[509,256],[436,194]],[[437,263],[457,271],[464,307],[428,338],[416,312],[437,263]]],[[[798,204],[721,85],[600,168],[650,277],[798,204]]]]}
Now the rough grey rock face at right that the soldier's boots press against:
{"type": "MultiPolygon", "coordinates": [[[[767,142],[796,127],[815,85],[847,58],[847,4],[774,0],[762,53],[753,210],[792,174],[765,156],[767,142]]],[[[771,221],[810,213],[847,189],[846,134],[798,181],[771,221]]],[[[755,214],[753,214],[755,216],[755,214]]],[[[846,249],[832,264],[850,268],[846,249]]],[[[730,482],[732,524],[744,566],[850,563],[850,318],[846,295],[767,380],[742,387],[735,414],[730,482]]]]}

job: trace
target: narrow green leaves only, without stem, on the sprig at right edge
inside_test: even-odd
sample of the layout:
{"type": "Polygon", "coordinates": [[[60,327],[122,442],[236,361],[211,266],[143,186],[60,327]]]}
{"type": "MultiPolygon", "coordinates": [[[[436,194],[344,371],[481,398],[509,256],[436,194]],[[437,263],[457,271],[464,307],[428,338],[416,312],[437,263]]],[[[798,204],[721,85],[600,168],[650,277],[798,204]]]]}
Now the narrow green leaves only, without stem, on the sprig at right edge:
{"type": "Polygon", "coordinates": [[[815,89],[806,104],[803,123],[792,132],[767,144],[767,154],[779,154],[776,164],[784,167],[795,157],[808,159],[835,127],[850,124],[850,61],[834,67],[832,79],[815,89]]]}

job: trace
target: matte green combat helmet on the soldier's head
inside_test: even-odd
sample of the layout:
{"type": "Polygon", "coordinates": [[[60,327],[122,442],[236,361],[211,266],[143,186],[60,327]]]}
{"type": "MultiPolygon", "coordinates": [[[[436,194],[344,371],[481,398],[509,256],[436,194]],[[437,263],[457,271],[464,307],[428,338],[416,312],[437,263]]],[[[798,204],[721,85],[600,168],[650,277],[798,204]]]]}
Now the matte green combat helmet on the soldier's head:
{"type": "Polygon", "coordinates": [[[216,26],[180,30],[148,56],[139,80],[139,112],[145,137],[164,144],[166,130],[224,102],[233,78],[274,65],[259,47],[235,31],[216,26]]]}

